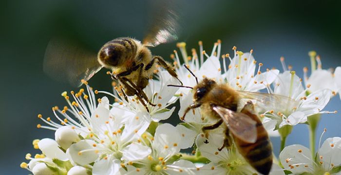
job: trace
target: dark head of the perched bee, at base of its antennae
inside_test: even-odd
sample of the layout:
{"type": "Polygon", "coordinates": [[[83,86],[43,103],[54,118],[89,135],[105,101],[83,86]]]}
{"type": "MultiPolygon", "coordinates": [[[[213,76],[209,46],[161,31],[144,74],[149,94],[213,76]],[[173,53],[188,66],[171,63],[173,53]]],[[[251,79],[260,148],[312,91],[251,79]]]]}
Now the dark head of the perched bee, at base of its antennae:
{"type": "Polygon", "coordinates": [[[193,88],[194,99],[200,101],[217,83],[214,80],[204,78],[193,88]]]}

